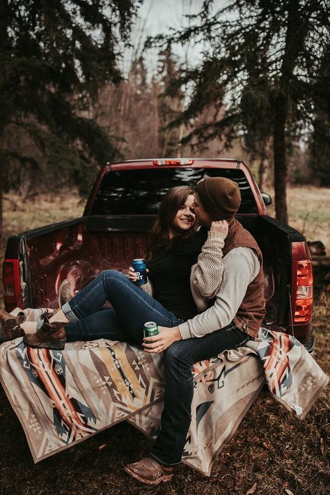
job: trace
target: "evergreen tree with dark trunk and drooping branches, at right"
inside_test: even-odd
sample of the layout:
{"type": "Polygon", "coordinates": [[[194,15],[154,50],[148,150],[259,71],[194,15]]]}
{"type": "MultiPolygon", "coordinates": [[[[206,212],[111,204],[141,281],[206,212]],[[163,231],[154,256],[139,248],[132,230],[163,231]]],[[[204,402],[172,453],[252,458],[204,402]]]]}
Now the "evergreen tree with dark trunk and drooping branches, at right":
{"type": "Polygon", "coordinates": [[[326,0],[230,0],[217,6],[205,0],[191,26],[165,40],[205,43],[201,65],[171,86],[171,91],[182,84],[193,88],[189,106],[173,125],[196,122],[210,104],[224,105],[224,116],[192,127],[184,143],[216,136],[230,143],[241,135],[262,157],[272,142],[276,217],[287,222],[290,143],[313,125],[316,100],[320,109],[327,107],[329,80],[320,68],[329,47],[330,6],[326,0]]]}

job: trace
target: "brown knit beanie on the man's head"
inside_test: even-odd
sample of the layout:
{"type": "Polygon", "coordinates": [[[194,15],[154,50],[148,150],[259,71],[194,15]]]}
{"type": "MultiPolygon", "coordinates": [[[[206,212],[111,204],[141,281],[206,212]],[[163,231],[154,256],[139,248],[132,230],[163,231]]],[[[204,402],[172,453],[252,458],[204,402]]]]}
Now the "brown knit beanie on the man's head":
{"type": "Polygon", "coordinates": [[[196,184],[196,191],[205,212],[214,220],[230,220],[241,204],[236,182],[224,177],[205,177],[196,184]]]}

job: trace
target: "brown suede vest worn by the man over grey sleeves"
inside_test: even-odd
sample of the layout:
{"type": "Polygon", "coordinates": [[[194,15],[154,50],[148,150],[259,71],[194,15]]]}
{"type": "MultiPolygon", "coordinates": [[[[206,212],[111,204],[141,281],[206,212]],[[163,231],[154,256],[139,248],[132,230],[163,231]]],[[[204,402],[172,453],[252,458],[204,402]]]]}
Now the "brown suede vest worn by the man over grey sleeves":
{"type": "Polygon", "coordinates": [[[265,316],[264,274],[262,270],[262,253],[252,235],[239,221],[233,219],[229,223],[228,235],[223,246],[223,256],[236,247],[254,249],[260,261],[260,271],[249,283],[246,294],[234,318],[235,324],[252,337],[258,335],[262,318],[265,316]]]}

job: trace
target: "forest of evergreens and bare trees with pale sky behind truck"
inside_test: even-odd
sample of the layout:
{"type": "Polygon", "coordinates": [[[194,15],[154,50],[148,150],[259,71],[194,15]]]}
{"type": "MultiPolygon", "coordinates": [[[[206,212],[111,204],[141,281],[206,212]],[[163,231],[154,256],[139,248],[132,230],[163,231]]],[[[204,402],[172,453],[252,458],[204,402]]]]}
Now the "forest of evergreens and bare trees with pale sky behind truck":
{"type": "Polygon", "coordinates": [[[330,186],[329,19],[324,0],[2,0],[1,232],[3,193],[86,198],[108,161],[191,155],[245,159],[288,221],[288,184],[330,186]]]}

